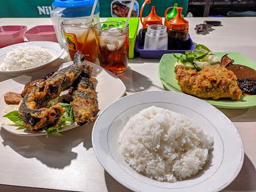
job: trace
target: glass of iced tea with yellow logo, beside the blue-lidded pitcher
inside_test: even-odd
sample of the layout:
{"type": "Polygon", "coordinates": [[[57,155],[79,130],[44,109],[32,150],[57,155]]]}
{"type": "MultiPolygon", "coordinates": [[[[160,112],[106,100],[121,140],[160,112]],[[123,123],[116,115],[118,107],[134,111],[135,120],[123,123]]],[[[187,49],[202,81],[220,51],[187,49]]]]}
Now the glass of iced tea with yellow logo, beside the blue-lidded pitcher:
{"type": "Polygon", "coordinates": [[[95,63],[97,59],[97,45],[93,25],[93,21],[89,22],[88,18],[62,21],[61,28],[72,60],[74,59],[75,52],[81,51],[87,61],[95,63]]]}

